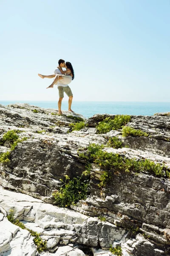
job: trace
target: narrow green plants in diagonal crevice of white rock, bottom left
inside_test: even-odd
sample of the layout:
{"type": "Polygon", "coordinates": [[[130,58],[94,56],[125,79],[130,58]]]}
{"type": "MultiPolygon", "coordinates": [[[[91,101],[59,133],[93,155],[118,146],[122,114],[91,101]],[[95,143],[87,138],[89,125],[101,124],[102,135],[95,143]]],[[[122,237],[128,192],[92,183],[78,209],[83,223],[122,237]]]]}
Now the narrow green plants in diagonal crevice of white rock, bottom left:
{"type": "Polygon", "coordinates": [[[46,250],[47,241],[43,241],[40,237],[40,234],[37,232],[34,232],[33,230],[30,230],[26,228],[26,226],[19,221],[19,219],[14,220],[14,210],[10,210],[10,214],[7,215],[8,221],[10,221],[12,224],[17,225],[18,227],[22,228],[23,230],[28,230],[31,233],[31,236],[34,236],[34,244],[37,245],[37,251],[41,253],[42,251],[46,250]]]}

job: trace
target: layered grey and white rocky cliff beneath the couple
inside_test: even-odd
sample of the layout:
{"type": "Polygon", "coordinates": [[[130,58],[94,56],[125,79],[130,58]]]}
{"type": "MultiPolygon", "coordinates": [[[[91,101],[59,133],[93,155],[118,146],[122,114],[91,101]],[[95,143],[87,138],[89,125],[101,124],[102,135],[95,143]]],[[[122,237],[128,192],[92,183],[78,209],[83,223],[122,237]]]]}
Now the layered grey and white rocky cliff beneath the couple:
{"type": "Polygon", "coordinates": [[[99,132],[97,125],[107,119],[116,118],[0,105],[1,256],[170,255],[170,113],[130,116],[125,126],[142,136],[122,136],[122,128],[99,132]],[[83,128],[71,131],[82,120],[83,128]],[[111,138],[121,146],[109,146],[111,138]],[[91,143],[104,145],[98,158],[88,153],[91,143]],[[88,164],[86,197],[57,206],[62,180],[82,177],[88,164]],[[44,252],[28,230],[9,221],[11,210],[40,233],[44,252]]]}

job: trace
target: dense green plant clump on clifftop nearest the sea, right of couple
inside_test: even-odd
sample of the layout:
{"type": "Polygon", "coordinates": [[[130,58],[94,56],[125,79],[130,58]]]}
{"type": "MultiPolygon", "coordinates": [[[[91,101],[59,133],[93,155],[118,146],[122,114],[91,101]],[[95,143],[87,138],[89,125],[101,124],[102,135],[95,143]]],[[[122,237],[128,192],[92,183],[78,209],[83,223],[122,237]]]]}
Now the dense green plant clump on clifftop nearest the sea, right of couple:
{"type": "Polygon", "coordinates": [[[107,117],[96,126],[97,133],[104,134],[111,130],[119,130],[128,122],[130,122],[130,116],[128,115],[117,115],[114,119],[107,117]]]}

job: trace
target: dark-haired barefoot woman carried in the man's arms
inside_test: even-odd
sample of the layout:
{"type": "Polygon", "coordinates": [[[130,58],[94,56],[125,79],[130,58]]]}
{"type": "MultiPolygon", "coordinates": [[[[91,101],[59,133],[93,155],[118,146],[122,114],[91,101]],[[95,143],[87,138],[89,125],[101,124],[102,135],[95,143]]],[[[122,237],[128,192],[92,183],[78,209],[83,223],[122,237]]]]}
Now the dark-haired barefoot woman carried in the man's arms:
{"type": "Polygon", "coordinates": [[[54,81],[52,82],[52,84],[50,84],[47,87],[47,89],[53,88],[54,84],[58,83],[58,80],[60,80],[61,84],[70,84],[71,81],[74,79],[74,69],[73,69],[71,63],[68,61],[65,63],[65,67],[66,67],[65,71],[63,71],[62,68],[60,68],[59,66],[57,67],[60,70],[60,72],[62,73],[62,75],[54,74],[54,75],[44,76],[44,75],[38,74],[38,76],[40,76],[42,79],[55,77],[54,81]],[[63,74],[65,74],[65,75],[63,75],[63,74]]]}

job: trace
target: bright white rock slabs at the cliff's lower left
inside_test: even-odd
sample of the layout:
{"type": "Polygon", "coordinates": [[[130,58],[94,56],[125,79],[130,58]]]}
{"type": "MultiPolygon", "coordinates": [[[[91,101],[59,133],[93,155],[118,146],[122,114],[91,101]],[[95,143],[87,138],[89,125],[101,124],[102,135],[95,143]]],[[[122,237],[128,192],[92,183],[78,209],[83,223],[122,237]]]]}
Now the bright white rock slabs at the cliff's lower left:
{"type": "MultiPolygon", "coordinates": [[[[80,252],[80,250],[69,246],[69,243],[76,242],[88,246],[97,246],[100,243],[102,247],[109,247],[111,241],[121,240],[125,234],[124,229],[109,222],[101,222],[96,218],[88,217],[73,210],[46,204],[39,199],[31,198],[29,195],[7,191],[1,186],[0,194],[0,207],[7,214],[12,209],[15,218],[23,221],[29,229],[40,233],[42,239],[47,241],[48,250],[57,250],[56,253],[59,255],[67,255],[64,253],[68,253],[68,249],[70,250],[68,256],[78,256],[79,253],[82,256],[84,255],[82,251],[80,252]],[[30,216],[31,219],[28,218],[30,216]]],[[[16,243],[18,243],[20,253],[25,253],[25,250],[30,247],[29,251],[32,253],[30,255],[34,255],[36,248],[33,244],[33,238],[29,238],[29,232],[11,224],[2,213],[0,217],[0,227],[2,227],[0,233],[3,237],[3,240],[0,240],[0,252],[5,253],[12,248],[12,253],[15,253],[16,243]],[[6,234],[6,236],[3,234],[6,234]],[[23,242],[23,240],[28,241],[23,242]]]]}

